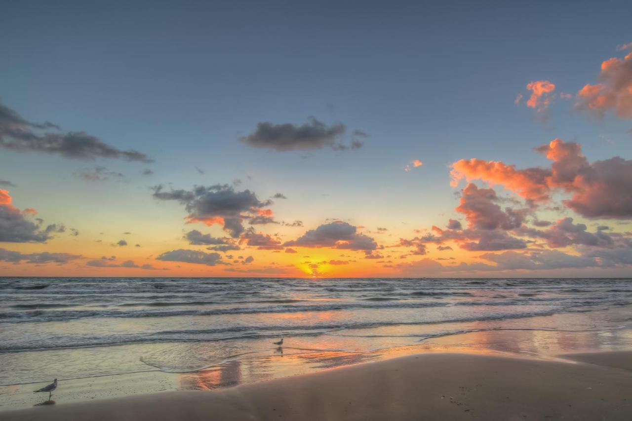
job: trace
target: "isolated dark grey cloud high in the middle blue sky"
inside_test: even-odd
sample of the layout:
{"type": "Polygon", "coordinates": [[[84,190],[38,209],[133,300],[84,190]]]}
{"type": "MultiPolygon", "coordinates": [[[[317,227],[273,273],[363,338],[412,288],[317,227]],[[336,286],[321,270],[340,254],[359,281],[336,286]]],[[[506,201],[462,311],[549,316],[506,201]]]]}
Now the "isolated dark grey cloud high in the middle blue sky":
{"type": "MultiPolygon", "coordinates": [[[[338,141],[344,135],[346,127],[342,124],[325,125],[325,123],[310,117],[307,123],[298,126],[291,123],[274,124],[258,123],[257,129],[240,140],[247,145],[257,148],[284,152],[288,150],[308,150],[331,148],[335,150],[359,149],[363,143],[353,140],[351,145],[344,145],[338,141]]],[[[356,131],[353,135],[358,136],[356,131]]]]}

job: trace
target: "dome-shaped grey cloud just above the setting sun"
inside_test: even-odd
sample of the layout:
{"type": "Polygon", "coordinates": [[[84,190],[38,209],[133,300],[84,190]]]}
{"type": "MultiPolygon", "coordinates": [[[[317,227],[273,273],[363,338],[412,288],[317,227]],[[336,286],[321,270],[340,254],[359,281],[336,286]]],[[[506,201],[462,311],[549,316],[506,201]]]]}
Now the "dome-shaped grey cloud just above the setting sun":
{"type": "Polygon", "coordinates": [[[356,233],[357,228],[342,221],[334,221],[310,229],[293,241],[287,241],[284,246],[298,247],[331,247],[348,250],[375,250],[377,243],[369,236],[356,233]]]}

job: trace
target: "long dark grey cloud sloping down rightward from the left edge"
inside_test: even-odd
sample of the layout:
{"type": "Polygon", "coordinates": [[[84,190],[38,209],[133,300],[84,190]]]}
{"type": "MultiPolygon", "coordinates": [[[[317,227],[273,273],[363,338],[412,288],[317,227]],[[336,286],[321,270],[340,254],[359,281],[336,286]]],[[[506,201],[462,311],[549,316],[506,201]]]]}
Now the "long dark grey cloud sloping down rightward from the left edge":
{"type": "Polygon", "coordinates": [[[58,154],[73,159],[97,157],[152,162],[137,150],[120,150],[83,131],[59,133],[52,123],[32,123],[0,104],[0,147],[17,152],[58,154]]]}

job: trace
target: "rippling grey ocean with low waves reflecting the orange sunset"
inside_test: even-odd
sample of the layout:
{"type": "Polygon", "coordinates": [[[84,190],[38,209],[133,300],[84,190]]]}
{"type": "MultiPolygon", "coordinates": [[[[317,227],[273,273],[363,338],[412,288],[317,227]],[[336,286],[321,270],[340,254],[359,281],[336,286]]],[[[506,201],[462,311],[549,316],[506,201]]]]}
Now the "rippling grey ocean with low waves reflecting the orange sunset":
{"type": "Polygon", "coordinates": [[[446,344],[629,349],[631,305],[632,279],[0,278],[0,385],[446,344]]]}

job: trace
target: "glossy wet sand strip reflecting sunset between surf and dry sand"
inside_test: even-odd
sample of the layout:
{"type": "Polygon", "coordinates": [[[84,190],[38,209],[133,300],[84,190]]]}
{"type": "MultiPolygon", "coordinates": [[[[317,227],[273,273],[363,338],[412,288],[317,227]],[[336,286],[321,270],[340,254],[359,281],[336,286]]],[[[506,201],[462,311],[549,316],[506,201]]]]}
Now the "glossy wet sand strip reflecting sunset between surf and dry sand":
{"type": "MultiPolygon", "coordinates": [[[[581,358],[588,358],[585,356],[599,355],[604,352],[613,355],[617,353],[626,355],[628,352],[626,350],[631,350],[632,352],[632,348],[629,346],[613,347],[604,346],[604,344],[597,344],[597,346],[593,344],[590,347],[576,346],[576,340],[580,338],[585,340],[586,336],[579,336],[569,342],[569,339],[573,338],[569,334],[584,335],[584,331],[492,329],[483,332],[485,335],[483,341],[481,341],[480,333],[459,333],[433,338],[432,341],[428,342],[380,348],[379,350],[301,350],[299,352],[275,353],[253,358],[228,360],[219,365],[191,372],[168,372],[155,369],[86,376],[76,379],[64,379],[61,377],[59,379],[60,385],[53,396],[57,396],[54,399],[58,401],[58,404],[69,405],[108,398],[125,398],[127,396],[162,393],[164,391],[221,391],[236,386],[265,383],[296,375],[318,374],[327,372],[330,369],[385,362],[411,355],[419,357],[422,355],[451,353],[568,362],[569,359],[580,360],[579,358],[573,358],[573,355],[581,355],[581,358]],[[537,336],[532,338],[533,334],[537,334],[537,336]],[[541,352],[541,350],[533,353],[528,350],[528,347],[519,350],[514,346],[507,346],[507,344],[520,343],[525,340],[530,342],[535,338],[541,343],[559,343],[562,339],[562,336],[559,336],[560,334],[564,335],[563,339],[566,346],[550,349],[549,352],[541,352]],[[545,338],[549,339],[542,342],[545,338]],[[493,346],[490,347],[490,345],[493,346]]],[[[590,334],[592,334],[592,331],[590,334]]],[[[587,343],[584,343],[584,345],[587,345],[587,343]]],[[[32,408],[40,398],[37,394],[33,395],[32,390],[46,386],[49,382],[28,382],[0,387],[0,398],[2,398],[0,400],[0,419],[6,412],[32,408]]]]}

